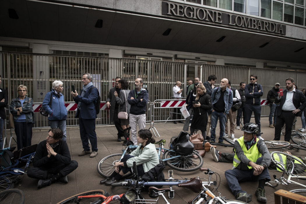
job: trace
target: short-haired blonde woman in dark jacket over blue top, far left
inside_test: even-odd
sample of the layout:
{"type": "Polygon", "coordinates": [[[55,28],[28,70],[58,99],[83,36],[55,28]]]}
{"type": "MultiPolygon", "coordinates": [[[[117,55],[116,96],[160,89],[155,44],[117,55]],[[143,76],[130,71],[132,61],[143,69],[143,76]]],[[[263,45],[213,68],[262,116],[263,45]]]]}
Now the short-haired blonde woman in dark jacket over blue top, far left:
{"type": "Polygon", "coordinates": [[[14,116],[17,149],[31,146],[32,124],[34,120],[33,99],[27,97],[28,89],[24,85],[17,88],[18,97],[13,98],[9,111],[14,116]]]}

